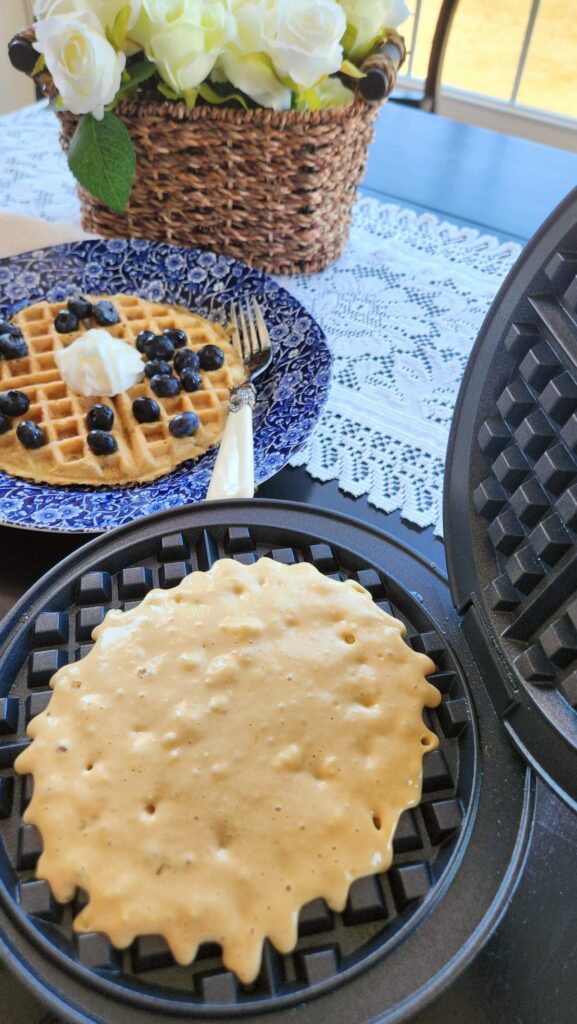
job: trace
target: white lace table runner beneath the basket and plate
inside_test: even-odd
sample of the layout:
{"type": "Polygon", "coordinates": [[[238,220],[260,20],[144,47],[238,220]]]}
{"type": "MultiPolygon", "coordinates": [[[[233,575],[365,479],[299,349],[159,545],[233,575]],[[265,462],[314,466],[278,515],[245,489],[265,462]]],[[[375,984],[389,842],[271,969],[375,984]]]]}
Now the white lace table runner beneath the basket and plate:
{"type": "MultiPolygon", "coordinates": [[[[0,207],[79,223],[56,119],[44,103],[0,118],[0,207]]],[[[337,263],[278,279],[311,310],[334,355],[327,408],[292,464],[440,535],[459,383],[519,252],[432,214],[359,200],[337,263]]]]}

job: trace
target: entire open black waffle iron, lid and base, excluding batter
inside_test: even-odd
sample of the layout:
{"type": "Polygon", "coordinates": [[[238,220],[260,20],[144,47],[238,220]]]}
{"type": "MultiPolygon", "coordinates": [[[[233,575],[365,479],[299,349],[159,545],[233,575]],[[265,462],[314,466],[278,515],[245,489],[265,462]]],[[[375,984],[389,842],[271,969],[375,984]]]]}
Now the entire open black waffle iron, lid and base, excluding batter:
{"type": "Polygon", "coordinates": [[[495,930],[523,872],[535,771],[577,809],[576,304],[577,193],[509,274],[465,373],[447,460],[449,585],[396,540],[335,513],[219,502],[91,542],[4,621],[0,952],[59,1020],[409,1021],[495,930]],[[250,986],[214,945],[183,968],[154,936],[124,951],[75,936],[83,894],[60,906],[35,879],[40,837],[22,821],[31,778],[12,767],[50,676],[87,652],[106,611],[223,556],[306,560],[358,580],[434,659],[443,693],[425,712],[440,745],[424,756],[422,800],[401,818],[391,868],[355,883],[342,913],[307,904],[295,951],[266,945],[250,986]]]}

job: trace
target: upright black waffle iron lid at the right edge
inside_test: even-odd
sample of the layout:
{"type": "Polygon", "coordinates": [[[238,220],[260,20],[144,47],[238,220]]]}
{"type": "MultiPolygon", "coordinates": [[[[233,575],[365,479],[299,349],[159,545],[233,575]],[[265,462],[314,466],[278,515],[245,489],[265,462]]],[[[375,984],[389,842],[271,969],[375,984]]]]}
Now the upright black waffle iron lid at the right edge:
{"type": "Polygon", "coordinates": [[[453,601],[527,760],[577,808],[577,189],[477,339],[451,426],[453,601]]]}

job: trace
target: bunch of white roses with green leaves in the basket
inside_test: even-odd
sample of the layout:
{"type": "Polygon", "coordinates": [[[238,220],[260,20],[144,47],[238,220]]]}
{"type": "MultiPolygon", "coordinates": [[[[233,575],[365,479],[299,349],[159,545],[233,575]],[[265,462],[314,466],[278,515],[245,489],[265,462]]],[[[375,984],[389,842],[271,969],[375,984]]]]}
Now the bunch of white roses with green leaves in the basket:
{"type": "Polygon", "coordinates": [[[117,211],[135,159],[114,109],[146,81],[147,95],[191,108],[338,106],[353,99],[342,77],[359,78],[410,13],[404,0],[35,0],[34,11],[35,70],[50,73],[54,105],[81,116],[71,169],[117,211]]]}

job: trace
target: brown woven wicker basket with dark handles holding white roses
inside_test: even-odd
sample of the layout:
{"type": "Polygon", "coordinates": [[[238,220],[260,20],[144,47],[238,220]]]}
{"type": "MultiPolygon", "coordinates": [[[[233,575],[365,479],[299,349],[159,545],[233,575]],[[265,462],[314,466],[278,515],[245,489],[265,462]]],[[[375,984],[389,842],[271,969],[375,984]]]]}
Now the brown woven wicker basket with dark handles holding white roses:
{"type": "MultiPolygon", "coordinates": [[[[130,202],[114,213],[79,187],[83,227],[225,252],[276,273],[322,270],[346,243],[373,123],[404,56],[403,39],[391,33],[365,65],[380,88],[373,76],[372,96],[365,84],[368,98],[358,90],[353,103],[334,110],[120,103],[115,113],[136,150],[130,202]]],[[[37,81],[53,92],[46,73],[37,81]]],[[[58,118],[67,150],[78,118],[58,118]]]]}

